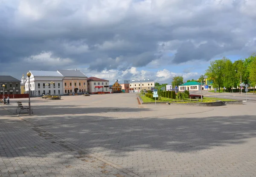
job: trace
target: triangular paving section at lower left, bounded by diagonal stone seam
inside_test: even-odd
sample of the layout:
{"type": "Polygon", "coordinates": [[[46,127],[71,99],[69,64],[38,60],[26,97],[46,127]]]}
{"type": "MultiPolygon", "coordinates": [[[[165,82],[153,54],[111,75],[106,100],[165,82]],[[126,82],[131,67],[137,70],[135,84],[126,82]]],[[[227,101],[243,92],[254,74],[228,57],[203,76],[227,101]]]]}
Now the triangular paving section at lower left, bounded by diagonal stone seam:
{"type": "Polygon", "coordinates": [[[129,171],[10,115],[3,107],[0,115],[1,177],[130,177],[129,171]]]}

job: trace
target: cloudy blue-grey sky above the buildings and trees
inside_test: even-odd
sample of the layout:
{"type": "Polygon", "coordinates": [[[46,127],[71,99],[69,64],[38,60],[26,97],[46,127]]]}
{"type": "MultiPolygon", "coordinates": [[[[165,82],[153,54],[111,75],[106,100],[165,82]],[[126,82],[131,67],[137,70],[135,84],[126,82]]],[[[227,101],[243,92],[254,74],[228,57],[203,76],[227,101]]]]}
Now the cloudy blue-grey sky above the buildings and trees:
{"type": "Polygon", "coordinates": [[[256,52],[256,0],[0,0],[0,75],[198,79],[256,52]]]}

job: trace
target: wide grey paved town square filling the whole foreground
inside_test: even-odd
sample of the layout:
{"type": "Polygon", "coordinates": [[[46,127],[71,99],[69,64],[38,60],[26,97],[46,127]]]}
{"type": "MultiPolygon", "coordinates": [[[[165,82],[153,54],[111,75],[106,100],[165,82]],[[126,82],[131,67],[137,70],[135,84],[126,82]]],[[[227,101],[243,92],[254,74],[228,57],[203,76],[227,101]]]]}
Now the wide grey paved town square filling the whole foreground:
{"type": "Polygon", "coordinates": [[[2,176],[256,176],[254,103],[138,105],[127,93],[32,106],[0,109],[2,176]]]}

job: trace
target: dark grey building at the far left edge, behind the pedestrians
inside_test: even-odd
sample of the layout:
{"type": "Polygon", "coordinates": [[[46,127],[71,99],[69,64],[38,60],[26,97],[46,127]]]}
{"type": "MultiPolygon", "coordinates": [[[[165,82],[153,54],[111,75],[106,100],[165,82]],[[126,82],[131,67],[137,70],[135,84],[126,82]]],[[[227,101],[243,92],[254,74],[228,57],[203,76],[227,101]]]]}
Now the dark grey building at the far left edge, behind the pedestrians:
{"type": "Polygon", "coordinates": [[[4,94],[20,94],[20,80],[12,76],[0,76],[0,95],[3,95],[3,90],[4,94]]]}

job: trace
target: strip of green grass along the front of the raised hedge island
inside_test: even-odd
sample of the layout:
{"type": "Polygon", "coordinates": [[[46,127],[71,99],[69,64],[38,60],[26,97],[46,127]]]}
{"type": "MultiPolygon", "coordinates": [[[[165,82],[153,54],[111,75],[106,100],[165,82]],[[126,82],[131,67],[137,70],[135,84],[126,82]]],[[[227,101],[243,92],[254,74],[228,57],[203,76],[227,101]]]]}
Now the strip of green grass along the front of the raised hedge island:
{"type": "MultiPolygon", "coordinates": [[[[144,103],[150,103],[150,102],[155,102],[155,100],[152,100],[151,98],[148,98],[146,96],[140,96],[143,100],[144,103]]],[[[189,98],[186,98],[184,99],[183,101],[189,101],[190,99],[189,98]]],[[[203,98],[203,102],[209,102],[211,100],[219,100],[219,101],[236,101],[236,100],[232,100],[232,99],[224,99],[224,98],[211,98],[211,97],[204,97],[203,98]]],[[[172,101],[173,102],[173,99],[171,98],[165,98],[165,97],[161,97],[161,100],[157,102],[163,102],[163,101],[172,101]]],[[[181,101],[181,100],[177,100],[175,99],[174,101],[181,101]]],[[[193,101],[193,103],[197,103],[197,102],[201,102],[201,98],[199,98],[199,101],[193,101]]]]}

